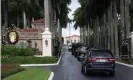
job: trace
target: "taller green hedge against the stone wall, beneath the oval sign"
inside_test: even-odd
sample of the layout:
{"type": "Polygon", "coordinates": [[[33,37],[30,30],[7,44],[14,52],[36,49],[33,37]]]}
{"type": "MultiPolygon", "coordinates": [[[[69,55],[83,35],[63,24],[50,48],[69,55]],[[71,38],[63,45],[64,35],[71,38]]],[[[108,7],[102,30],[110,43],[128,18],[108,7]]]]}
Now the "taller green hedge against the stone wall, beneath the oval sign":
{"type": "Polygon", "coordinates": [[[21,48],[16,46],[2,45],[1,55],[8,56],[33,56],[35,51],[32,48],[21,48]]]}

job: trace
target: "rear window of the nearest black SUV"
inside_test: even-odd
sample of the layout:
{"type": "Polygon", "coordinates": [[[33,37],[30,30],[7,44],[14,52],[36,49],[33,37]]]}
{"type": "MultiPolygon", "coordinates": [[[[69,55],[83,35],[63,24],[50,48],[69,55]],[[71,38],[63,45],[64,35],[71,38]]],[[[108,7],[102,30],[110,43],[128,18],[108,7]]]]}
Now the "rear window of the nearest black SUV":
{"type": "Polygon", "coordinates": [[[101,51],[101,50],[94,50],[91,53],[91,57],[105,57],[105,58],[112,58],[113,55],[109,51],[101,51]]]}

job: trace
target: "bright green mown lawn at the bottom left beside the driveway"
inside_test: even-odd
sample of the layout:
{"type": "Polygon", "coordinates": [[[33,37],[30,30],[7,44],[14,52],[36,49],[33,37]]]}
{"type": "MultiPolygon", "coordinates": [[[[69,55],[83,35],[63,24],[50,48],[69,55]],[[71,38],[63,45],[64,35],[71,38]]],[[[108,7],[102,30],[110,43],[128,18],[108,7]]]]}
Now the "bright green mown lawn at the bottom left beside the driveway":
{"type": "Polygon", "coordinates": [[[26,70],[11,75],[3,80],[48,80],[50,71],[40,68],[27,68],[26,70]]]}

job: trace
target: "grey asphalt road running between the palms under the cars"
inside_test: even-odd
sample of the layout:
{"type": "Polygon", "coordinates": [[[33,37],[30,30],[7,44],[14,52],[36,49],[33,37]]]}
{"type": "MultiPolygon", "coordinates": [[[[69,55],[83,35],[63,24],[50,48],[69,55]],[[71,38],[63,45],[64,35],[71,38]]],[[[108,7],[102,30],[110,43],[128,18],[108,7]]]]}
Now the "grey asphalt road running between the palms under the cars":
{"type": "Polygon", "coordinates": [[[133,68],[120,64],[116,64],[114,77],[109,77],[105,73],[94,73],[85,76],[81,73],[81,63],[68,52],[67,47],[63,49],[62,55],[60,65],[45,67],[54,72],[54,80],[133,80],[133,68]]]}

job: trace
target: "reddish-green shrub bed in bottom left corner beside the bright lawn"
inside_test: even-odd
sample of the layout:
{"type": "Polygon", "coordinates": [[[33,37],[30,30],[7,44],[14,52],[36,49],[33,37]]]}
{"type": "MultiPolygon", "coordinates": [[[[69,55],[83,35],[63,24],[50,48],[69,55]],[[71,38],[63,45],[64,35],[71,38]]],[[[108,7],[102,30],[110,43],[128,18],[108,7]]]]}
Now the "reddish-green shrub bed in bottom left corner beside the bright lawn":
{"type": "Polygon", "coordinates": [[[16,64],[1,64],[1,78],[5,78],[23,70],[24,68],[16,64]]]}

